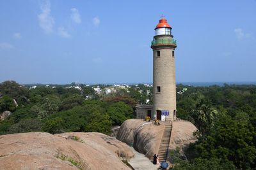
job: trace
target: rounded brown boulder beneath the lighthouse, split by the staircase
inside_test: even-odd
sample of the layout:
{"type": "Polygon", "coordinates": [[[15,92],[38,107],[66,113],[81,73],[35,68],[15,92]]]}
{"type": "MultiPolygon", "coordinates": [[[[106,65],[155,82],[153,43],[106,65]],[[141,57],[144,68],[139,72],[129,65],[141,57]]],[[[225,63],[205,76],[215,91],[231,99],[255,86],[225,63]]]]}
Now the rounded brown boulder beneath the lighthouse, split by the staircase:
{"type": "MultiPolygon", "coordinates": [[[[126,120],[120,127],[116,139],[133,144],[134,148],[146,155],[149,159],[158,153],[159,145],[163,137],[164,124],[154,125],[152,122],[145,122],[138,119],[126,120]]],[[[196,131],[195,125],[187,121],[172,122],[172,134],[170,138],[169,150],[179,147],[181,150],[189,143],[195,142],[193,132],[196,131]]],[[[170,157],[168,158],[170,159],[170,157]]]]}

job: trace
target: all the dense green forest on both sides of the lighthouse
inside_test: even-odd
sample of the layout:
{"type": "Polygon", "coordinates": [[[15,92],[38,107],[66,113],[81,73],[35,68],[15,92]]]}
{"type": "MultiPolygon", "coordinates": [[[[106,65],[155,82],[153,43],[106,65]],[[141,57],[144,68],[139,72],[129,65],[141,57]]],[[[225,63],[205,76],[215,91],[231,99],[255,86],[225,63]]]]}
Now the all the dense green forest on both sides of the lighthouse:
{"type": "MultiPolygon", "coordinates": [[[[152,87],[132,85],[110,94],[97,93],[108,85],[70,85],[35,89],[15,81],[0,83],[0,134],[44,131],[111,133],[111,127],[134,117],[134,106],[152,103],[152,87]],[[15,106],[13,99],[19,106],[15,106]]],[[[177,85],[177,116],[198,128],[198,141],[184,154],[172,153],[173,169],[256,169],[256,86],[177,85]],[[186,90],[185,90],[186,89],[186,90]]]]}

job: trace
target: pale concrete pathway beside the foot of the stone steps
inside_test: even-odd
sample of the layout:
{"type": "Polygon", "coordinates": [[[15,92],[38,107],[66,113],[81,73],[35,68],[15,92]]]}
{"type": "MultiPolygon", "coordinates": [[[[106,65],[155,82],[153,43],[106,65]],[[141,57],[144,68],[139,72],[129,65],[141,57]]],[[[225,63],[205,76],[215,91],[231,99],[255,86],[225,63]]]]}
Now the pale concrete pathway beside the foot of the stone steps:
{"type": "Polygon", "coordinates": [[[134,150],[133,147],[130,147],[134,153],[134,157],[129,161],[129,164],[135,170],[157,170],[159,165],[154,165],[145,155],[134,150]]]}

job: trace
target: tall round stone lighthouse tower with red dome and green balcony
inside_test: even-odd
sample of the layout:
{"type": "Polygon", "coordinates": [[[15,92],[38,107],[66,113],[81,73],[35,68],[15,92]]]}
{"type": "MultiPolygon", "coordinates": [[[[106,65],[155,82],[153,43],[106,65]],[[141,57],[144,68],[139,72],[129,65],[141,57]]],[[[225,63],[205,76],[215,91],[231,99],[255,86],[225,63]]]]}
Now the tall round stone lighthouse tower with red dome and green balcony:
{"type": "Polygon", "coordinates": [[[176,118],[175,39],[172,27],[165,18],[156,25],[156,36],[151,43],[153,50],[153,113],[157,120],[176,118]]]}

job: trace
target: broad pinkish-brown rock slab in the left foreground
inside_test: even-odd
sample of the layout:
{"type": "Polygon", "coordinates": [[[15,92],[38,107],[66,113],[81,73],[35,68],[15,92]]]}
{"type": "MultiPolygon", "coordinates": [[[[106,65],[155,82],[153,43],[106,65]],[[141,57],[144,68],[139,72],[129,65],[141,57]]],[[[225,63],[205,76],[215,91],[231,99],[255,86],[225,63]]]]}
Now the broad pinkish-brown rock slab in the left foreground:
{"type": "Polygon", "coordinates": [[[97,132],[44,132],[0,136],[0,169],[130,169],[125,143],[97,132]]]}

